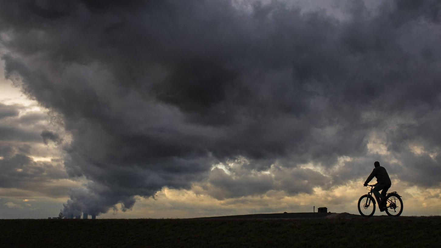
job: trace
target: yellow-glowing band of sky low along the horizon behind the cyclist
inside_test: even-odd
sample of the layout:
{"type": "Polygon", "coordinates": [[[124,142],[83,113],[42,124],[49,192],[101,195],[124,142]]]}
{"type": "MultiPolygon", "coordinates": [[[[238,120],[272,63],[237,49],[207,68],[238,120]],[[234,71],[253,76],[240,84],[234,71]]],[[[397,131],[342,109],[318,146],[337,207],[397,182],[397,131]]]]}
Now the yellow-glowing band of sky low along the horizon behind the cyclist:
{"type": "MultiPolygon", "coordinates": [[[[163,188],[154,199],[138,196],[133,210],[123,213],[124,218],[194,218],[207,216],[312,212],[313,206],[328,207],[333,213],[359,214],[357,203],[360,196],[368,193],[363,180],[349,181],[345,185],[323,189],[316,187],[310,194],[287,195],[283,191],[269,191],[262,195],[239,198],[215,199],[194,184],[191,189],[163,188]]],[[[397,191],[404,202],[403,215],[440,215],[441,189],[423,189],[409,186],[400,180],[392,180],[389,192],[397,191]],[[410,194],[411,192],[411,194],[410,194]]],[[[122,214],[122,213],[121,213],[122,214]]],[[[378,209],[376,215],[385,215],[378,209]]],[[[103,214],[103,218],[121,218],[115,213],[103,214]]]]}

